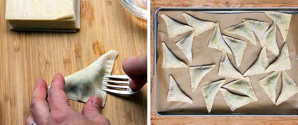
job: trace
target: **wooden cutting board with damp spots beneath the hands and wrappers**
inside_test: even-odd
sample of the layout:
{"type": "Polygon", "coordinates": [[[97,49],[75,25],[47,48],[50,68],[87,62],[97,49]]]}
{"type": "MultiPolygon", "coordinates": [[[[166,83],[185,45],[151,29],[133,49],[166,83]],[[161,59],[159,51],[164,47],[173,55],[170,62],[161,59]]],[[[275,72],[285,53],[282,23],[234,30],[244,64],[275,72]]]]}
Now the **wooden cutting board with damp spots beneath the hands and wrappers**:
{"type": "MultiPolygon", "coordinates": [[[[5,0],[0,2],[0,124],[22,125],[31,114],[35,81],[48,85],[57,72],[79,71],[105,52],[119,52],[113,75],[124,74],[122,61],[147,52],[147,21],[115,0],[81,0],[81,28],[76,33],[28,32],[9,29],[5,0]]],[[[77,112],[85,103],[69,101],[77,112]]],[[[147,123],[147,86],[130,96],[107,95],[101,114],[111,124],[147,123]]]]}

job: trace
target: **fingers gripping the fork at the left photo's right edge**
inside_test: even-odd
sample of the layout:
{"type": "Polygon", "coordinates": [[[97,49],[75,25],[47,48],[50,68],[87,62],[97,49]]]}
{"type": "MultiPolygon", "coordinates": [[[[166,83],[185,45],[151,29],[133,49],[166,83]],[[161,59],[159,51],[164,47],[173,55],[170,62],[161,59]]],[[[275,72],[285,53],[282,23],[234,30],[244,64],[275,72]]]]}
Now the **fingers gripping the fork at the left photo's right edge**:
{"type": "Polygon", "coordinates": [[[131,89],[140,89],[147,83],[147,54],[126,58],[122,62],[122,68],[131,78],[131,89]]]}

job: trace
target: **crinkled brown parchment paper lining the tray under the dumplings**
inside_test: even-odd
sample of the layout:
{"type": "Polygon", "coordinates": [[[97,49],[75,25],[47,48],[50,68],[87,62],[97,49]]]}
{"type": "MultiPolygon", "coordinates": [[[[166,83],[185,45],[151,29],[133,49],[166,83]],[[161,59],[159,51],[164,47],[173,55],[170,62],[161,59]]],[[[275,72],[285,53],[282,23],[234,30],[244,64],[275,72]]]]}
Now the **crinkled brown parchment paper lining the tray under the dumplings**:
{"type": "MultiPolygon", "coordinates": [[[[224,29],[243,22],[242,21],[243,18],[269,22],[270,23],[269,27],[271,26],[271,24],[273,24],[273,21],[271,20],[271,18],[269,18],[265,13],[258,13],[258,12],[241,13],[241,14],[210,14],[210,13],[193,12],[193,11],[183,11],[183,12],[201,20],[218,22],[221,29],[221,33],[223,35],[227,35],[240,40],[245,40],[248,43],[244,51],[244,55],[243,55],[243,59],[240,67],[237,67],[234,56],[232,54],[228,54],[229,60],[231,61],[232,65],[234,65],[234,67],[236,66],[235,68],[241,74],[243,74],[255,62],[255,60],[259,56],[259,53],[262,47],[258,39],[257,39],[258,45],[255,46],[253,43],[251,43],[250,41],[248,41],[247,39],[241,36],[224,32],[224,29]]],[[[157,60],[156,72],[153,77],[153,88],[152,88],[152,99],[154,99],[153,101],[154,109],[156,112],[187,111],[187,112],[206,112],[207,113],[207,108],[206,108],[205,101],[203,99],[203,95],[201,93],[200,87],[221,79],[226,79],[226,82],[224,83],[224,85],[237,79],[218,75],[218,69],[221,61],[222,52],[217,49],[208,47],[209,39],[211,38],[214,27],[194,37],[193,46],[192,46],[192,55],[193,55],[192,63],[188,62],[187,58],[184,56],[182,51],[175,45],[175,43],[179,41],[181,38],[183,38],[184,35],[187,35],[188,32],[185,32],[173,38],[168,38],[165,22],[160,15],[165,14],[175,21],[178,21],[182,24],[187,24],[184,16],[182,15],[183,12],[182,11],[172,11],[172,12],[159,11],[159,14],[158,14],[159,24],[158,24],[158,35],[157,35],[158,37],[157,50],[158,50],[159,58],[157,60]],[[181,61],[186,63],[186,65],[188,66],[212,65],[212,64],[216,65],[215,68],[213,68],[201,80],[200,84],[198,85],[198,88],[193,93],[191,91],[190,75],[189,75],[188,68],[162,68],[162,57],[163,57],[162,44],[161,44],[162,42],[164,42],[167,45],[167,47],[173,52],[174,55],[176,55],[176,57],[178,57],[181,61]],[[175,81],[177,82],[181,90],[193,100],[193,104],[179,102],[179,101],[167,101],[170,75],[173,76],[173,78],[175,79],[175,81]]],[[[288,47],[289,47],[291,65],[292,65],[292,68],[286,71],[296,83],[298,83],[298,72],[297,72],[298,23],[297,22],[298,22],[298,15],[292,14],[288,36],[285,41],[289,43],[288,47]]],[[[257,38],[257,36],[255,37],[257,38]]],[[[279,50],[281,50],[285,42],[283,41],[283,38],[278,28],[277,28],[276,38],[277,38],[277,44],[278,44],[279,50]]],[[[277,58],[268,49],[267,49],[267,56],[268,56],[269,64],[274,62],[274,60],[277,58]]],[[[252,87],[255,91],[255,94],[257,95],[258,101],[253,101],[243,107],[236,109],[234,112],[247,113],[247,114],[297,115],[298,94],[295,94],[290,99],[286,100],[284,103],[278,106],[273,104],[273,102],[266,95],[265,91],[260,86],[258,81],[263,77],[267,76],[268,74],[270,73],[249,76],[250,81],[252,83],[252,87]]],[[[277,88],[276,88],[276,93],[277,93],[276,100],[280,94],[281,85],[282,85],[282,75],[280,75],[277,88]]],[[[218,91],[214,99],[214,104],[213,104],[211,113],[229,113],[229,112],[232,112],[232,111],[224,101],[222,93],[218,91]]]]}

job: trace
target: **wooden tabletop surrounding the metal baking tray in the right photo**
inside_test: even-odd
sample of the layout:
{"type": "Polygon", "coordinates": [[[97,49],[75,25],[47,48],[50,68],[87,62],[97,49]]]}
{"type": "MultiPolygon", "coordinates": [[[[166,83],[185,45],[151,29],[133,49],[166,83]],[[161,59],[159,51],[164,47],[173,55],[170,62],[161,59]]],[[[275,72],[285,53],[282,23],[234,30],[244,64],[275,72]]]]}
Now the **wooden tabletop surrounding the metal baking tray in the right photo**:
{"type": "MultiPolygon", "coordinates": [[[[159,7],[298,7],[298,0],[151,0],[150,3],[150,81],[153,79],[153,18],[159,7]]],[[[152,98],[151,98],[152,99],[152,98]]],[[[160,117],[151,100],[151,124],[298,124],[297,117],[160,117]]]]}

